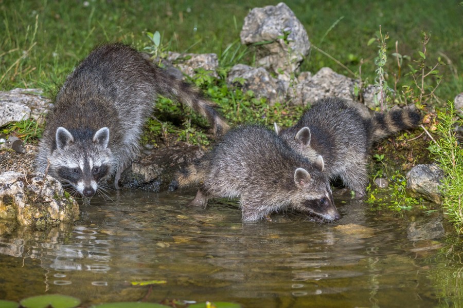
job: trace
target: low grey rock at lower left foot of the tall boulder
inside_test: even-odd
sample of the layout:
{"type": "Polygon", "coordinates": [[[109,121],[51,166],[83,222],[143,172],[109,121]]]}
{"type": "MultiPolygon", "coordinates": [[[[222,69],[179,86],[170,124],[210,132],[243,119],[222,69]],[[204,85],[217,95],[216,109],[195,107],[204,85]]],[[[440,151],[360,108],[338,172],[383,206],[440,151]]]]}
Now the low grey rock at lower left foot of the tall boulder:
{"type": "Polygon", "coordinates": [[[263,67],[254,68],[244,64],[231,68],[227,84],[239,86],[243,91],[252,90],[256,98],[266,98],[270,104],[284,102],[288,89],[288,82],[273,78],[263,67]],[[240,79],[244,80],[243,84],[239,82],[240,79]]]}

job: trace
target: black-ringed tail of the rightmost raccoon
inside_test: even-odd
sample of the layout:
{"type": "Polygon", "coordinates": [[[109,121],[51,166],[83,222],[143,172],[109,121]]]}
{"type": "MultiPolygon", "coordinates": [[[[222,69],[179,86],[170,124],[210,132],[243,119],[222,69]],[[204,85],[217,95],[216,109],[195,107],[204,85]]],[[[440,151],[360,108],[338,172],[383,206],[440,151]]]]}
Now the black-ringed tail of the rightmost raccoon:
{"type": "Polygon", "coordinates": [[[371,122],[371,141],[376,142],[401,130],[417,127],[421,123],[421,115],[414,107],[397,108],[387,113],[375,113],[371,122]]]}

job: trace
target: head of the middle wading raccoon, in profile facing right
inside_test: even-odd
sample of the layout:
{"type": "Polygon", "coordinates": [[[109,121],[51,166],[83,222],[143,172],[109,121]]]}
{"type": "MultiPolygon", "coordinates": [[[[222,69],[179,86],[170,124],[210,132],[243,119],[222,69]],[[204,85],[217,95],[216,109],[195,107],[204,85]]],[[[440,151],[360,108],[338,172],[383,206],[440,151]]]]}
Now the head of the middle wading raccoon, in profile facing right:
{"type": "Polygon", "coordinates": [[[302,213],[314,214],[322,219],[333,221],[341,218],[334,205],[328,178],[322,174],[323,158],[319,156],[313,163],[311,174],[304,168],[294,172],[294,183],[300,195],[299,204],[295,207],[302,213]]]}

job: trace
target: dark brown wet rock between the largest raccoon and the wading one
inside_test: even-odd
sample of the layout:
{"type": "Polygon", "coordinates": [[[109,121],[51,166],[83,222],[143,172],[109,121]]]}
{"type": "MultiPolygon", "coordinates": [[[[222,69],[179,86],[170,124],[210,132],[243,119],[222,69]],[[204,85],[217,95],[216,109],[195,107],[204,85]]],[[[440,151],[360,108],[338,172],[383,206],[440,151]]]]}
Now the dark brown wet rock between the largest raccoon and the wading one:
{"type": "Polygon", "coordinates": [[[174,172],[187,162],[204,155],[199,146],[184,142],[154,151],[147,157],[133,162],[122,172],[120,183],[124,188],[158,192],[167,190],[174,172]]]}

